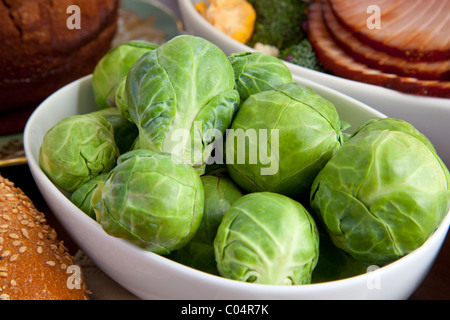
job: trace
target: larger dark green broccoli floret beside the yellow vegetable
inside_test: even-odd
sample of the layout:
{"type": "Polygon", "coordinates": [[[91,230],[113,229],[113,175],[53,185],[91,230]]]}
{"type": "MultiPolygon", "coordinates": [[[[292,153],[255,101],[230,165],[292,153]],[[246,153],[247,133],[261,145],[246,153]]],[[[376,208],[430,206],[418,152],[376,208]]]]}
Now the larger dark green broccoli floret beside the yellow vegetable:
{"type": "Polygon", "coordinates": [[[269,44],[282,50],[305,37],[302,27],[309,3],[302,0],[248,0],[256,12],[255,29],[247,45],[269,44]]]}

